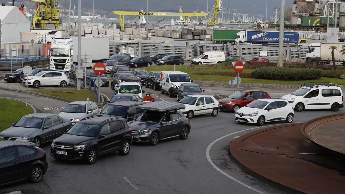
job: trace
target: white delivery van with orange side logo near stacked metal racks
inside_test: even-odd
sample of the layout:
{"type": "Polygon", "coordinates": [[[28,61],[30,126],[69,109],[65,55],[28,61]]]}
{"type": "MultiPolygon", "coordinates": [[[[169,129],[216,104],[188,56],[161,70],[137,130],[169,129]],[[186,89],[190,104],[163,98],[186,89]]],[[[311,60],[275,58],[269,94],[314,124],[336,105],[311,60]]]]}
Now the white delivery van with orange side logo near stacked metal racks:
{"type": "Polygon", "coordinates": [[[223,51],[207,51],[199,57],[190,61],[190,64],[215,64],[225,61],[225,54],[223,51]]]}

